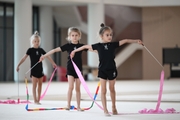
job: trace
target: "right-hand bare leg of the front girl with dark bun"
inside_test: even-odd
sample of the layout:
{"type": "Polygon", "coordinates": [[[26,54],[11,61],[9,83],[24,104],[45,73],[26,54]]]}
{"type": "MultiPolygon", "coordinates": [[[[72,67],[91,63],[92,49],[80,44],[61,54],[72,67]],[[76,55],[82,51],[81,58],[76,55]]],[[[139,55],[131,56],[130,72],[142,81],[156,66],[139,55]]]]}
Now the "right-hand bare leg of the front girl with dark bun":
{"type": "Polygon", "coordinates": [[[113,115],[117,115],[117,110],[116,110],[116,91],[115,91],[115,82],[116,79],[110,80],[109,81],[109,90],[110,90],[110,95],[111,95],[111,101],[112,101],[112,113],[113,115]]]}

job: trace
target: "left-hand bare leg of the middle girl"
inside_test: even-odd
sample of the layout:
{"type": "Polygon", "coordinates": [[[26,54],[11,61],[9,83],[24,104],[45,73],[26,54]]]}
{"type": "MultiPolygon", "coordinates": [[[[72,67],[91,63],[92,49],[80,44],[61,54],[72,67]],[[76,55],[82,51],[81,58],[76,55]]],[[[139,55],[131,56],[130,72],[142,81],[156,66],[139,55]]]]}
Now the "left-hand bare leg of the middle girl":
{"type": "Polygon", "coordinates": [[[72,92],[74,89],[74,77],[68,75],[68,83],[69,83],[69,88],[68,88],[68,95],[67,95],[67,107],[68,109],[70,109],[71,107],[71,99],[72,99],[72,92]]]}

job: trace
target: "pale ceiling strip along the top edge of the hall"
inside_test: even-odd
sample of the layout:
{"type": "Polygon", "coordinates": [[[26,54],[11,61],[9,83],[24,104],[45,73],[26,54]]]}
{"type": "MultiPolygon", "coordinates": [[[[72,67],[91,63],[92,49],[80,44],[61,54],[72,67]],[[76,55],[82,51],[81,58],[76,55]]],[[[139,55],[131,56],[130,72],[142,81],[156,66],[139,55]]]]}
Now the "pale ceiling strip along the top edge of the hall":
{"type": "MultiPolygon", "coordinates": [[[[15,0],[0,0],[14,2],[15,0]]],[[[180,6],[180,0],[32,0],[33,5],[69,6],[87,5],[89,3],[104,3],[114,5],[152,7],[152,6],[180,6]]]]}

